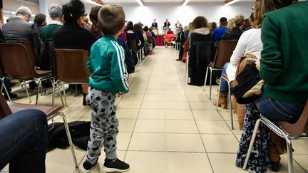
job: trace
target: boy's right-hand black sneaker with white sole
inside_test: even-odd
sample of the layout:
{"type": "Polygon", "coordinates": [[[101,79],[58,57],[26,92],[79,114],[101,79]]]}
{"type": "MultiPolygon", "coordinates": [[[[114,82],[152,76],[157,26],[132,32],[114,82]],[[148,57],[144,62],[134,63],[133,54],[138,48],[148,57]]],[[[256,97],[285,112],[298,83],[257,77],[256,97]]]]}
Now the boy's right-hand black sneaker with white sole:
{"type": "Polygon", "coordinates": [[[103,165],[103,170],[105,172],[125,172],[130,169],[129,164],[120,161],[118,158],[110,160],[105,159],[105,163],[103,165]]]}

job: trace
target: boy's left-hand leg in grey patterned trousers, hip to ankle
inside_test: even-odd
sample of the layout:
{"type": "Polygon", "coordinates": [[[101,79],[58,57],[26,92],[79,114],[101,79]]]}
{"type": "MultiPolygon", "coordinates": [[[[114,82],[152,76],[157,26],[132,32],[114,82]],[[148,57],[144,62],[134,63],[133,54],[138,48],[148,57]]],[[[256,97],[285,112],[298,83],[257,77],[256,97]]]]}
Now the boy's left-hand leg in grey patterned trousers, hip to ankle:
{"type": "MultiPolygon", "coordinates": [[[[112,121],[111,112],[116,96],[112,93],[102,92],[91,88],[86,100],[91,105],[92,118],[90,126],[90,140],[88,141],[88,162],[94,164],[101,155],[104,138],[107,136],[109,124],[112,121]]],[[[115,132],[118,133],[118,132],[115,132]]],[[[116,154],[116,152],[115,152],[116,154]]]]}

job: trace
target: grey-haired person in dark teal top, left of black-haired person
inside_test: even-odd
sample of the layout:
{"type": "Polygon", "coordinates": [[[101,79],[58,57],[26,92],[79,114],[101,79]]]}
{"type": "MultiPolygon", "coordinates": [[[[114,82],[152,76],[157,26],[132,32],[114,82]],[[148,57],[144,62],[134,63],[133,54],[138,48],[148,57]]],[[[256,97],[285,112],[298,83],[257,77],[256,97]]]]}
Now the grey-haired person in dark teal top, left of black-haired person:
{"type": "Polygon", "coordinates": [[[48,14],[51,18],[51,23],[47,26],[44,26],[41,31],[42,41],[53,41],[52,34],[58,28],[63,26],[61,22],[62,18],[62,6],[59,4],[51,4],[48,9],[48,14]]]}

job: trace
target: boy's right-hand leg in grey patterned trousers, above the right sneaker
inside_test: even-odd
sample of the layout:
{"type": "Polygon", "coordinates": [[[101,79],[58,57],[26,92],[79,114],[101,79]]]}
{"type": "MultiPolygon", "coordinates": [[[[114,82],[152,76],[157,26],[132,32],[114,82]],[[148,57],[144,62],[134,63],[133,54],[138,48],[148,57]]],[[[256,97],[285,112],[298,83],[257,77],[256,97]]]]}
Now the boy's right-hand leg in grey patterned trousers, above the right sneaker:
{"type": "Polygon", "coordinates": [[[110,120],[108,123],[108,131],[106,133],[106,137],[104,137],[103,145],[105,147],[106,152],[106,158],[107,159],[116,159],[117,154],[117,142],[116,142],[116,136],[118,135],[118,119],[116,117],[116,106],[113,105],[113,110],[110,115],[110,120]]]}

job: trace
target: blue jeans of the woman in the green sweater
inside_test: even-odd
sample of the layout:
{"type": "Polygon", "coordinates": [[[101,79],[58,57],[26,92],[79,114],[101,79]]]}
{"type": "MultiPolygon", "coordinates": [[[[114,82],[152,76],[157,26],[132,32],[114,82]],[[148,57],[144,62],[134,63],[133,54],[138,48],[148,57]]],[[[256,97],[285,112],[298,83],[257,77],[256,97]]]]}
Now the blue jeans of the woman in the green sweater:
{"type": "Polygon", "coordinates": [[[290,123],[297,122],[304,110],[304,105],[302,104],[280,102],[272,98],[267,98],[265,95],[260,95],[256,98],[255,105],[265,117],[290,123]]]}

